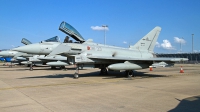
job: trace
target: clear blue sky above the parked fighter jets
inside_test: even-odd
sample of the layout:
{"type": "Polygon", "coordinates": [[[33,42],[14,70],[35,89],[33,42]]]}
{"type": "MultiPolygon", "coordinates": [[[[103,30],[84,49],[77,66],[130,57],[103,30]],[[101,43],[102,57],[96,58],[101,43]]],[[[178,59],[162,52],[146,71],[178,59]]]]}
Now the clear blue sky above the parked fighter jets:
{"type": "Polygon", "coordinates": [[[22,38],[36,43],[59,36],[63,41],[66,34],[58,30],[62,21],[97,43],[104,43],[104,31],[91,26],[106,24],[107,44],[120,47],[160,26],[155,52],[179,52],[174,37],[185,41],[183,52],[191,52],[191,34],[194,50],[200,52],[200,0],[0,0],[0,49],[21,46],[22,38]]]}

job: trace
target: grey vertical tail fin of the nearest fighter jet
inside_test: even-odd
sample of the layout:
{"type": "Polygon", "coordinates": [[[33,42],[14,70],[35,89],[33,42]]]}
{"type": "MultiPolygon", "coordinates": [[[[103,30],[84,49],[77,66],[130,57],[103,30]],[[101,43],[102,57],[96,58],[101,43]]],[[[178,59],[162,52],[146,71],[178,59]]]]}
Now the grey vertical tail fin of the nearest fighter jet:
{"type": "Polygon", "coordinates": [[[131,49],[139,49],[143,51],[151,51],[156,45],[158,35],[160,34],[161,27],[157,26],[146,34],[142,39],[140,39],[134,46],[130,46],[131,49]]]}

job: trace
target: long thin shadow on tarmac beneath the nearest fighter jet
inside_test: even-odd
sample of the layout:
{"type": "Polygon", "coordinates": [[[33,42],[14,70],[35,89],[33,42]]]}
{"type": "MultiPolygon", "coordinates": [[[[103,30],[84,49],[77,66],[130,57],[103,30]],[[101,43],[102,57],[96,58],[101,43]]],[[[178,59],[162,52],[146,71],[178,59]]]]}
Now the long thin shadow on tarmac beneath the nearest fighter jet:
{"type": "MultiPolygon", "coordinates": [[[[81,71],[80,71],[81,72],[81,71]]],[[[134,72],[134,77],[139,78],[156,78],[156,77],[167,77],[165,75],[154,75],[154,74],[145,74],[146,72],[134,72]]],[[[20,79],[30,79],[30,78],[74,78],[73,74],[53,74],[53,75],[45,75],[45,76],[33,76],[33,77],[24,77],[20,79]]],[[[102,79],[113,79],[113,78],[127,78],[124,72],[108,72],[108,75],[102,75],[99,71],[79,74],[79,78],[81,77],[102,77],[102,79]]]]}

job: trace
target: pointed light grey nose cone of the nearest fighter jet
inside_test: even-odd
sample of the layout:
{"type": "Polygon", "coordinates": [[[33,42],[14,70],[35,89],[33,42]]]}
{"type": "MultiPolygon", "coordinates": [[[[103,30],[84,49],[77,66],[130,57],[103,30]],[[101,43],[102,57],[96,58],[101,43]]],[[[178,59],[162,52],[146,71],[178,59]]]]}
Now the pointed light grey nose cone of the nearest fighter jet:
{"type": "Polygon", "coordinates": [[[39,44],[31,44],[12,49],[14,51],[24,52],[28,54],[38,54],[40,52],[39,44]]]}

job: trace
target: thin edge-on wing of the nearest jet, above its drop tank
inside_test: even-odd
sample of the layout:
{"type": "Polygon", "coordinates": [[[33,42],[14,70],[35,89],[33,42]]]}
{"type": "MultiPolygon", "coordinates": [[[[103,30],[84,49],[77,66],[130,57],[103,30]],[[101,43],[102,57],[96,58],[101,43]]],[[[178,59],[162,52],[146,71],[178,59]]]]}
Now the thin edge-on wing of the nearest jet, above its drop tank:
{"type": "Polygon", "coordinates": [[[188,61],[187,58],[125,58],[125,57],[107,57],[107,56],[89,56],[91,59],[103,59],[103,60],[124,60],[124,61],[188,61]]]}

